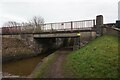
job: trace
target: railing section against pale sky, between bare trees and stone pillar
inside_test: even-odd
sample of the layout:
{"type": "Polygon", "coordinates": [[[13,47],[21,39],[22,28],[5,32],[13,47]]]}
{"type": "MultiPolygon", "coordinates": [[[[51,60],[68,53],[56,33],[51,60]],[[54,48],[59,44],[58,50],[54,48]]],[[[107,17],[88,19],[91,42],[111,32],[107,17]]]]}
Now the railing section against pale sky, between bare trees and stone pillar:
{"type": "Polygon", "coordinates": [[[95,25],[95,20],[71,21],[60,23],[48,23],[42,27],[43,31],[66,31],[92,28],[95,25]]]}

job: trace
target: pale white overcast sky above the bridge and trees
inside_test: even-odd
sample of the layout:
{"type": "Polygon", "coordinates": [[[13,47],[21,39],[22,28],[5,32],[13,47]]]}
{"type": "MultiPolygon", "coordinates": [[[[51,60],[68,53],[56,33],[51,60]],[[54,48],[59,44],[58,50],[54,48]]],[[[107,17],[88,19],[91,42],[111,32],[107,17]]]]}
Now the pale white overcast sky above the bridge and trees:
{"type": "Polygon", "coordinates": [[[27,22],[42,16],[45,22],[95,19],[104,22],[118,19],[119,0],[0,0],[0,26],[7,21],[27,22]]]}

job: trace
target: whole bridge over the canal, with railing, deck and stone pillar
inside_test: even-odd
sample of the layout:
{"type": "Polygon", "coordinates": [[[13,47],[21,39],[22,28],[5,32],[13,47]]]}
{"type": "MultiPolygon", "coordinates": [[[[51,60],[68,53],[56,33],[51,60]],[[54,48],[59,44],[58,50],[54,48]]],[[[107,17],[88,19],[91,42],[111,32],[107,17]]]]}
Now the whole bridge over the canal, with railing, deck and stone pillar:
{"type": "MultiPolygon", "coordinates": [[[[82,20],[82,21],[69,21],[59,23],[47,23],[36,26],[16,26],[16,27],[3,27],[2,35],[17,36],[20,39],[27,41],[29,44],[35,44],[38,39],[58,40],[58,38],[74,38],[74,45],[80,46],[80,37],[82,33],[95,32],[101,35],[103,26],[103,16],[98,15],[95,19],[82,20]]],[[[54,41],[54,40],[53,40],[54,41]]],[[[58,40],[59,41],[59,40],[58,40]]],[[[58,41],[55,41],[59,43],[58,41]]]]}

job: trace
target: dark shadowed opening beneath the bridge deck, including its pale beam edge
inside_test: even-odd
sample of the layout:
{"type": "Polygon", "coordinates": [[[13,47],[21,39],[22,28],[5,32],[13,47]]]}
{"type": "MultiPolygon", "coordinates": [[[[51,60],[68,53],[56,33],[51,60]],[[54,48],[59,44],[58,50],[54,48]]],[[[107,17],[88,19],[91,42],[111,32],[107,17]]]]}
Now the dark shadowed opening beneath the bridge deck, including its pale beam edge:
{"type": "Polygon", "coordinates": [[[53,49],[60,47],[78,49],[80,47],[79,32],[34,34],[33,37],[39,44],[42,44],[43,47],[53,49]]]}

